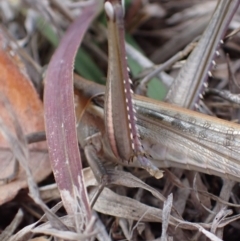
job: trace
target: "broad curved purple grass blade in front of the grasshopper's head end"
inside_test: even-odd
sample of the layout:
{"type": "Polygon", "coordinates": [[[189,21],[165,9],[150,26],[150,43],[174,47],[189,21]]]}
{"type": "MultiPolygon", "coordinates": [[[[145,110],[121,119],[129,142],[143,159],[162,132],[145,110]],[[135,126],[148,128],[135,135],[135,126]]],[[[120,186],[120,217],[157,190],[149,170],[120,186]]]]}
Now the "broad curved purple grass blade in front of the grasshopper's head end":
{"type": "Polygon", "coordinates": [[[63,204],[69,214],[81,211],[86,221],[91,212],[75,128],[72,69],[78,46],[98,7],[96,3],[86,7],[69,27],[50,61],[44,95],[49,155],[63,204]]]}

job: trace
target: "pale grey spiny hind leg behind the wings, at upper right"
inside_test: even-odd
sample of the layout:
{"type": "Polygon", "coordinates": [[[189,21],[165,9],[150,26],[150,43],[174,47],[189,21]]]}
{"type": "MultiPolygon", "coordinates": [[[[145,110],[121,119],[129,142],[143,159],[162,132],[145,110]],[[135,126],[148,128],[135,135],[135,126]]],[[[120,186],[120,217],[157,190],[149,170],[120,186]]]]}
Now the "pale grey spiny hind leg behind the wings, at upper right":
{"type": "Polygon", "coordinates": [[[218,1],[211,20],[172,84],[166,101],[189,109],[198,109],[199,99],[207,87],[207,75],[211,76],[213,60],[219,55],[218,47],[223,42],[224,30],[237,10],[239,1],[218,1]]]}

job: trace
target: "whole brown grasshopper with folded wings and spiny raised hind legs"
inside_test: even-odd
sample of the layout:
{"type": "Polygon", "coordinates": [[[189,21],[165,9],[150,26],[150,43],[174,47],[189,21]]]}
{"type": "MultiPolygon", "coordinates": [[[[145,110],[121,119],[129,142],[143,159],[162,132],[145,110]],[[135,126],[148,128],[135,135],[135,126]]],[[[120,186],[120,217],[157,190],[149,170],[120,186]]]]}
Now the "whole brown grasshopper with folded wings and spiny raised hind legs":
{"type": "Polygon", "coordinates": [[[105,2],[109,41],[106,89],[84,80],[75,83],[91,99],[78,125],[78,136],[100,183],[108,182],[100,159],[144,168],[156,178],[163,175],[158,168],[180,167],[240,181],[240,125],[186,109],[198,105],[212,59],[238,5],[236,0],[218,2],[198,47],[169,91],[170,103],[165,103],[132,92],[123,7],[117,0],[105,2]],[[183,87],[187,78],[190,80],[183,87]],[[186,88],[190,95],[181,92],[186,88]],[[185,96],[182,102],[179,95],[174,98],[179,92],[185,96]]]}

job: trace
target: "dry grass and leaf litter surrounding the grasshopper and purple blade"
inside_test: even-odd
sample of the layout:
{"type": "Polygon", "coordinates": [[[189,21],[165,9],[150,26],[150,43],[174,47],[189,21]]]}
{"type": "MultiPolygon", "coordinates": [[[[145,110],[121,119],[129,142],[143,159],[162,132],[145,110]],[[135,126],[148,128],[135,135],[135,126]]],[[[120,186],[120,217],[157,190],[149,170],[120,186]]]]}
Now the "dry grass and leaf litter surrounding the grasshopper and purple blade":
{"type": "MultiPolygon", "coordinates": [[[[153,65],[164,63],[201,35],[216,2],[126,1],[127,42],[153,65]]],[[[87,224],[81,213],[67,215],[59,203],[47,143],[28,143],[33,142],[32,133],[44,131],[44,78],[50,58],[68,26],[89,4],[0,0],[0,240],[239,240],[239,184],[196,172],[174,168],[166,170],[163,179],[155,180],[145,171],[119,167],[121,172],[113,175],[115,185],[100,197],[94,208],[97,212],[87,224]],[[20,169],[11,176],[18,162],[20,169]],[[35,197],[29,196],[28,188],[35,197]],[[168,198],[165,205],[163,196],[168,198]],[[52,213],[47,207],[53,208],[52,213]],[[47,212],[50,221],[42,218],[47,212]]],[[[238,10],[227,33],[239,26],[238,10]]],[[[239,43],[236,33],[219,49],[209,81],[211,88],[229,89],[230,75],[239,81],[239,43]]],[[[84,37],[75,72],[104,84],[107,64],[106,19],[101,10],[84,37]]],[[[165,81],[171,82],[182,64],[179,61],[167,69],[165,81]]],[[[152,70],[140,66],[131,53],[129,66],[135,83],[152,70]]],[[[162,100],[167,88],[153,78],[147,95],[162,100]]],[[[211,94],[206,94],[204,102],[212,115],[239,122],[236,104],[211,94]]],[[[95,185],[94,177],[85,159],[82,154],[85,185],[93,193],[96,189],[90,187],[95,185]]],[[[114,164],[111,168],[115,170],[114,164]]]]}

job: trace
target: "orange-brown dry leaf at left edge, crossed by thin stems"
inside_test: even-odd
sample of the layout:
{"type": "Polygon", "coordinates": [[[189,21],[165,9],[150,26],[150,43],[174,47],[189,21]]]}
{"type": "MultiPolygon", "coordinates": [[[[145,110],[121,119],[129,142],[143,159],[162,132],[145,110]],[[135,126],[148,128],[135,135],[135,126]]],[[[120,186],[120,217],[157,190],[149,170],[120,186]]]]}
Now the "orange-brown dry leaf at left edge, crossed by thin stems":
{"type": "MultiPolygon", "coordinates": [[[[18,117],[24,134],[44,130],[43,105],[32,83],[28,79],[24,64],[17,53],[8,45],[8,40],[0,31],[0,92],[10,102],[18,117]]],[[[6,127],[14,133],[8,111],[0,105],[0,117],[6,127]]],[[[46,143],[35,143],[29,146],[29,166],[37,182],[51,173],[46,143]]],[[[0,176],[8,177],[13,172],[14,156],[9,144],[0,134],[0,176]]],[[[27,187],[26,175],[20,168],[16,179],[0,185],[0,205],[15,197],[18,191],[27,187]]]]}

